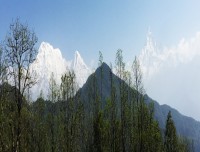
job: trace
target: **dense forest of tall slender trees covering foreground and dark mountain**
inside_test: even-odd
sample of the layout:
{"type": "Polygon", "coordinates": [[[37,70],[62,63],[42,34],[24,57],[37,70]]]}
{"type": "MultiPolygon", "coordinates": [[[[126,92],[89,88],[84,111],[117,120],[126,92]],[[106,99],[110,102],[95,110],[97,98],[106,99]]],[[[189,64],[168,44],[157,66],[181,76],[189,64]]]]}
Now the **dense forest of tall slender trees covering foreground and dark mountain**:
{"type": "Polygon", "coordinates": [[[139,60],[135,57],[127,71],[122,50],[117,50],[109,74],[99,52],[99,67],[84,91],[77,89],[73,71],[63,74],[60,85],[52,73],[48,99],[41,92],[31,102],[29,89],[37,78],[29,67],[36,43],[35,33],[17,19],[1,44],[0,151],[194,151],[192,141],[177,134],[170,111],[165,130],[159,128],[153,102],[144,101],[139,60]],[[105,85],[109,91],[103,90],[105,85]]]}

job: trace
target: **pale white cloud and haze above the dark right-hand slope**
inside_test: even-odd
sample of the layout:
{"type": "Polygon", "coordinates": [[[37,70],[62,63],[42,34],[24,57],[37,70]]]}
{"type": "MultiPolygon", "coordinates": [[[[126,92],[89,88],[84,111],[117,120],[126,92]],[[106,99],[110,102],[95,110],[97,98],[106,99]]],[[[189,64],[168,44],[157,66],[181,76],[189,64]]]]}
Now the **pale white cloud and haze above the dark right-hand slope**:
{"type": "Polygon", "coordinates": [[[159,51],[148,39],[139,56],[146,92],[159,103],[200,120],[200,32],[159,51]]]}

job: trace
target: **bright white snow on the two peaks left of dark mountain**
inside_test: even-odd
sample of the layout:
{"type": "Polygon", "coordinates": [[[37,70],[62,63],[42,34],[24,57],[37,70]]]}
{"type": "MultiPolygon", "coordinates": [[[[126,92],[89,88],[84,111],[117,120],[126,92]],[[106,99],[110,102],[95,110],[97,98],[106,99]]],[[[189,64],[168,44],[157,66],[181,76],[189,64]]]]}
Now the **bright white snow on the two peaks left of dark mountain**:
{"type": "Polygon", "coordinates": [[[32,99],[36,100],[41,92],[44,98],[47,98],[51,74],[54,74],[56,83],[60,85],[61,76],[69,69],[75,72],[78,87],[81,87],[91,74],[91,70],[84,63],[78,51],[75,52],[74,61],[67,61],[58,48],[42,42],[36,60],[31,64],[31,70],[35,71],[37,76],[37,84],[31,88],[32,99]]]}

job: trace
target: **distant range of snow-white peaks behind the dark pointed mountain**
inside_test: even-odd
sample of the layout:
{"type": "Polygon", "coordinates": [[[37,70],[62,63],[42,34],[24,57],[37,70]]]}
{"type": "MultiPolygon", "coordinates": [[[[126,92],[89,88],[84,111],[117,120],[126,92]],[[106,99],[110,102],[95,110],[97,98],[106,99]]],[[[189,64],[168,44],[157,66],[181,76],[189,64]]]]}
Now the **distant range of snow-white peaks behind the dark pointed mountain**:
{"type": "MultiPolygon", "coordinates": [[[[152,34],[149,31],[147,34],[147,43],[143,48],[139,59],[141,61],[141,67],[144,72],[145,78],[148,79],[155,71],[152,65],[155,65],[157,50],[156,44],[153,41],[152,34]],[[153,58],[154,60],[152,60],[153,58]]],[[[76,75],[76,84],[80,88],[86,82],[88,76],[92,74],[92,70],[88,67],[78,51],[74,53],[73,60],[66,60],[61,53],[61,50],[54,48],[48,42],[42,42],[38,49],[36,60],[31,64],[31,71],[36,74],[37,83],[31,88],[32,100],[36,100],[42,92],[45,99],[47,99],[49,81],[51,74],[54,74],[55,81],[59,86],[61,83],[61,76],[69,71],[73,70],[76,75]]],[[[130,69],[130,67],[127,67],[130,69]]],[[[114,70],[115,71],[115,70],[114,70]]]]}

